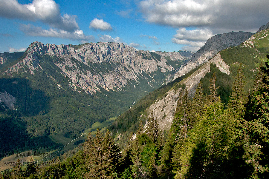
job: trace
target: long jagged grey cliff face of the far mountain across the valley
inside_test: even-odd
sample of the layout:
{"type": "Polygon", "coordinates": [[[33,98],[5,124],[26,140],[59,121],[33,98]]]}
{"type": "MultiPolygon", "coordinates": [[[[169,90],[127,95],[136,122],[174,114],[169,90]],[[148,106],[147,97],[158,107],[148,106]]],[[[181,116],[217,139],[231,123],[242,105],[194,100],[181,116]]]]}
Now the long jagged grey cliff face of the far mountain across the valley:
{"type": "Polygon", "coordinates": [[[42,55],[51,55],[59,58],[55,65],[60,68],[60,73],[71,79],[69,86],[74,90],[80,87],[91,94],[100,91],[98,86],[108,91],[119,90],[128,85],[129,81],[138,85],[141,78],[146,79],[152,87],[150,82],[160,86],[166,75],[175,70],[165,57],[171,56],[170,60],[182,63],[190,57],[190,52],[184,53],[137,51],[133,47],[112,42],[78,46],[33,42],[26,50],[25,58],[8,68],[5,74],[12,75],[18,71],[34,74],[35,70],[42,69],[42,55]],[[160,75],[163,78],[161,80],[160,75]],[[158,76],[157,81],[155,76],[158,76]]]}

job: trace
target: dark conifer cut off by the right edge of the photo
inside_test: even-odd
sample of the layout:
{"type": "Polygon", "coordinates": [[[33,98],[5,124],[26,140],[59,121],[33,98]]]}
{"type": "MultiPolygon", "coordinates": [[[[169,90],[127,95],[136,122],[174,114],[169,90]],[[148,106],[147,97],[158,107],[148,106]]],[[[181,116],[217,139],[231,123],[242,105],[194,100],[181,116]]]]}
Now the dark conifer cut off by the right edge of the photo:
{"type": "Polygon", "coordinates": [[[252,154],[250,157],[255,166],[253,178],[265,178],[269,175],[269,54],[265,67],[260,69],[261,73],[258,72],[257,78],[262,78],[262,81],[256,80],[254,92],[257,116],[247,122],[250,135],[249,154],[252,154]]]}

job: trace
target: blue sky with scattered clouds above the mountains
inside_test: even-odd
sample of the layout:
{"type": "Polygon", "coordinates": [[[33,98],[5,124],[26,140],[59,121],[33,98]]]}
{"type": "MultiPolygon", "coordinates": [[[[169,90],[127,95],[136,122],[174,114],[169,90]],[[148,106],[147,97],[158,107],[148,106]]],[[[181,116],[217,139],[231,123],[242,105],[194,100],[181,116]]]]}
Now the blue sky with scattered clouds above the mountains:
{"type": "Polygon", "coordinates": [[[256,32],[268,9],[268,0],[0,0],[0,53],[34,41],[196,52],[213,35],[256,32]]]}

